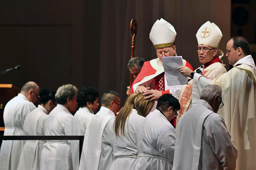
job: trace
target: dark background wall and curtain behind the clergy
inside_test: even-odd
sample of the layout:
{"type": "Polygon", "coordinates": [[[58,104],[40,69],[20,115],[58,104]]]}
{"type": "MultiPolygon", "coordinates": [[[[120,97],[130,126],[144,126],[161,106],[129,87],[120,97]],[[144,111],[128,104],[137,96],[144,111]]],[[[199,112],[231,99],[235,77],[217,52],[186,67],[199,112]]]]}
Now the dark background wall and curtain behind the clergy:
{"type": "Polygon", "coordinates": [[[22,69],[0,75],[0,83],[21,87],[35,81],[53,90],[67,83],[78,88],[91,85],[100,95],[116,90],[123,103],[129,85],[132,18],[138,22],[135,56],[156,58],[149,32],[162,17],[177,31],[178,55],[197,68],[197,29],[208,20],[217,24],[223,34],[220,49],[225,52],[230,15],[230,0],[3,1],[0,70],[17,64],[22,69]]]}

